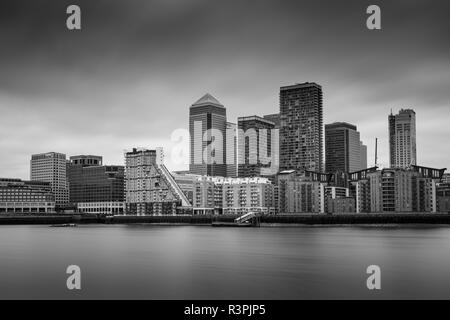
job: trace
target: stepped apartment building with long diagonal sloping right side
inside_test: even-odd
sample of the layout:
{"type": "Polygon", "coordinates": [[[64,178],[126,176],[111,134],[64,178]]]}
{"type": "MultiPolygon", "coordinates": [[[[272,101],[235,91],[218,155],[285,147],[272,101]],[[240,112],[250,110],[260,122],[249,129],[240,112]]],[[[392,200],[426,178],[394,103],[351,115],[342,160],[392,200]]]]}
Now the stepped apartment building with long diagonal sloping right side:
{"type": "Polygon", "coordinates": [[[125,152],[126,213],[131,215],[175,215],[178,207],[190,207],[186,195],[156,150],[125,152]]]}

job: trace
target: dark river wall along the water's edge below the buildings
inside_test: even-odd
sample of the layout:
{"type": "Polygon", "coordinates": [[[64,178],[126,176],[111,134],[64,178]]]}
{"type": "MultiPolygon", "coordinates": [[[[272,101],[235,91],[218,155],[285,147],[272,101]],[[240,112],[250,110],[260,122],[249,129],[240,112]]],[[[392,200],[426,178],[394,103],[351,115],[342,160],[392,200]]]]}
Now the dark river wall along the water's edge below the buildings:
{"type": "MultiPolygon", "coordinates": [[[[211,216],[113,216],[42,215],[0,216],[0,225],[55,225],[55,224],[173,224],[211,225],[212,222],[232,222],[231,215],[211,216]]],[[[444,224],[450,225],[450,214],[395,213],[395,214],[339,214],[339,215],[268,215],[260,218],[264,225],[353,225],[353,224],[444,224]]]]}

